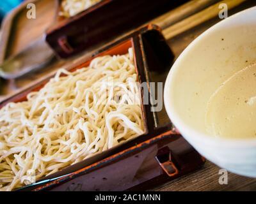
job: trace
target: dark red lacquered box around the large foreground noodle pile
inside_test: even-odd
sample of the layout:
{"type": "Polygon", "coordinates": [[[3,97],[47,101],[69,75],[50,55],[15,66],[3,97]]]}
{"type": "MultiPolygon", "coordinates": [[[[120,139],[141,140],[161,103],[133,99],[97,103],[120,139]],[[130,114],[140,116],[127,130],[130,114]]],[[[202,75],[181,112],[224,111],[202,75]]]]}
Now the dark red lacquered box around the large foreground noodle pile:
{"type": "MultiPolygon", "coordinates": [[[[153,81],[153,73],[156,75],[156,73],[170,69],[173,62],[172,51],[166,44],[159,27],[155,25],[148,25],[125,36],[122,40],[115,41],[108,47],[95,52],[90,59],[74,64],[68,69],[74,71],[88,66],[90,61],[97,56],[126,54],[130,47],[134,50],[138,81],[140,84],[146,82],[148,85],[148,90],[141,91],[142,101],[145,101],[147,97],[152,97],[151,94],[146,93],[152,91],[149,83],[153,81]]],[[[6,99],[0,104],[0,108],[11,101],[26,100],[29,92],[40,90],[49,78],[6,99]]],[[[19,190],[144,190],[200,168],[204,164],[204,158],[179,135],[170,120],[164,123],[159,122],[159,113],[152,112],[152,108],[154,109],[151,103],[142,105],[145,134],[80,163],[68,166],[38,180],[36,184],[19,190]]],[[[166,117],[164,108],[161,114],[161,117],[166,117]]]]}

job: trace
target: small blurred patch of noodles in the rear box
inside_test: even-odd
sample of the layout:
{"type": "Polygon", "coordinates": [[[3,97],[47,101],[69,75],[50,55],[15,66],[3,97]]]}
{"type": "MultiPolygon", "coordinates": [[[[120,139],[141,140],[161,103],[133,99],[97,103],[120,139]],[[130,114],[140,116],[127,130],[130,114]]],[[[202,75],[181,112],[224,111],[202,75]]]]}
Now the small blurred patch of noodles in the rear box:
{"type": "Polygon", "coordinates": [[[100,1],[102,0],[63,0],[61,1],[60,15],[63,17],[73,17],[100,1]]]}

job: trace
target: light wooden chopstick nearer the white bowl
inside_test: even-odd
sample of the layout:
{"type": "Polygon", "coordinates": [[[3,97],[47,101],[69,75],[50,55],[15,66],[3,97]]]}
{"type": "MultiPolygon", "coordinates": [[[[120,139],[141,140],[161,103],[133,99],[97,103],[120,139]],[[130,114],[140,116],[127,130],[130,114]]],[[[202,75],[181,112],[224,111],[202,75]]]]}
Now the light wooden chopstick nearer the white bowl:
{"type": "Polygon", "coordinates": [[[238,6],[244,1],[246,0],[220,1],[219,3],[209,6],[205,10],[202,10],[194,15],[191,15],[191,17],[188,17],[178,22],[177,24],[167,27],[166,29],[163,30],[163,35],[166,38],[166,40],[169,40],[170,38],[173,38],[174,36],[177,36],[178,34],[183,33],[184,31],[188,31],[189,29],[195,27],[196,25],[202,24],[203,22],[206,22],[207,20],[210,20],[211,18],[216,17],[220,12],[219,5],[221,3],[227,4],[228,10],[231,10],[232,8],[238,6]]]}

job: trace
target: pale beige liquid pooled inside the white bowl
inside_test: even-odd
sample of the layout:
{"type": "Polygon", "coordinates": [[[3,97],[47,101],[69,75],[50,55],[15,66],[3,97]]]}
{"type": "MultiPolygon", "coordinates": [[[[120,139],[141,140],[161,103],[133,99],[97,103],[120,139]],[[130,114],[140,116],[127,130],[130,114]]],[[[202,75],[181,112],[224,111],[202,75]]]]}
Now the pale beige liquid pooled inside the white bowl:
{"type": "Polygon", "coordinates": [[[256,138],[256,64],[235,73],[212,94],[207,132],[225,138],[256,138]]]}

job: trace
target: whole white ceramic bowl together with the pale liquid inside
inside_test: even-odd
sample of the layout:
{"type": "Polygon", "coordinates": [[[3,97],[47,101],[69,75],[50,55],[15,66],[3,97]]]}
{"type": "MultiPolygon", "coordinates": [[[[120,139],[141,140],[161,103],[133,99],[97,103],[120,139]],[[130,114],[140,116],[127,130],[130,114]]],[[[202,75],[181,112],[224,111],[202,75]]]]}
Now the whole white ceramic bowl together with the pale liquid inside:
{"type": "Polygon", "coordinates": [[[206,159],[256,177],[256,7],[198,36],[164,85],[174,126],[206,159]]]}

